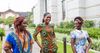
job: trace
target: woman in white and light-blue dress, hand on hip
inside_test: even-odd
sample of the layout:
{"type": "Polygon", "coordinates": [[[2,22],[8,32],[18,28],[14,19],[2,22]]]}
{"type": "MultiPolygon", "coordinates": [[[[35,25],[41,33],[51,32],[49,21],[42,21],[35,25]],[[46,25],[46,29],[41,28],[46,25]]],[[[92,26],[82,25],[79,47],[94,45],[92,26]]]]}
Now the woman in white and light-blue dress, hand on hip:
{"type": "Polygon", "coordinates": [[[71,32],[71,46],[73,53],[89,53],[89,48],[91,46],[91,39],[87,31],[82,30],[83,19],[81,17],[76,17],[74,19],[75,30],[71,32]],[[86,41],[88,40],[88,45],[86,41]]]}

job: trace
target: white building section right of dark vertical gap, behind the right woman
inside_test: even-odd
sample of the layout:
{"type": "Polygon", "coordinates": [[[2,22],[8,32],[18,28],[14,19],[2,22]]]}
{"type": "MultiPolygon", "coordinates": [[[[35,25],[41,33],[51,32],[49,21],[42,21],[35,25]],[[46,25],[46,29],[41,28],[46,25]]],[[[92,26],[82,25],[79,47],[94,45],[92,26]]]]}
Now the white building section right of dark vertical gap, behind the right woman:
{"type": "Polygon", "coordinates": [[[73,20],[76,16],[84,20],[93,20],[95,26],[100,23],[100,1],[99,0],[65,0],[66,19],[73,20]]]}

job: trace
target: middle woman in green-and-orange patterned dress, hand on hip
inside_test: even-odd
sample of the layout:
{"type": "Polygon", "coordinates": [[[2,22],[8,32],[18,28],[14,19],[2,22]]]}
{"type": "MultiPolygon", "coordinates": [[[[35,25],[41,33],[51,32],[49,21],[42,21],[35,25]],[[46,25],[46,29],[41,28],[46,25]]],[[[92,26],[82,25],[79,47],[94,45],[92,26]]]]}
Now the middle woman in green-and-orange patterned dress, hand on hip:
{"type": "Polygon", "coordinates": [[[55,33],[53,24],[49,24],[51,21],[51,14],[45,13],[43,17],[43,23],[39,24],[33,34],[35,41],[42,49],[42,53],[57,53],[57,45],[55,44],[55,33]],[[37,35],[40,33],[42,45],[37,40],[37,35]]]}

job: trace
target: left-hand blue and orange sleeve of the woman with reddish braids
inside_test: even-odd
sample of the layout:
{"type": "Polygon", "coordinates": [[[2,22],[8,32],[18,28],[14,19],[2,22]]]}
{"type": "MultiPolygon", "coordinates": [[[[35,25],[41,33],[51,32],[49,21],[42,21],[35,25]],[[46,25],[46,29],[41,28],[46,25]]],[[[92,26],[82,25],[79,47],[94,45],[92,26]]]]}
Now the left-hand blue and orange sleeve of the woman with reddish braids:
{"type": "Polygon", "coordinates": [[[12,43],[13,43],[12,36],[10,34],[8,34],[6,37],[6,40],[4,42],[3,48],[4,49],[6,49],[6,48],[11,49],[12,43]]]}

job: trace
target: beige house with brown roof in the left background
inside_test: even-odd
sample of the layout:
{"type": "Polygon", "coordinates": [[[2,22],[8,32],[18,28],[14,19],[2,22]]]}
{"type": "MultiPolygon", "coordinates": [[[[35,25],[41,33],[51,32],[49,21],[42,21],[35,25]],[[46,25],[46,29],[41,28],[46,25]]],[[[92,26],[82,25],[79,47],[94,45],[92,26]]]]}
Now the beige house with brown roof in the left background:
{"type": "MultiPolygon", "coordinates": [[[[4,12],[0,12],[0,18],[2,18],[2,19],[7,19],[10,16],[14,17],[14,18],[16,18],[18,16],[26,17],[26,16],[28,16],[28,12],[16,12],[16,11],[13,11],[12,9],[8,9],[8,10],[6,10],[4,12]]],[[[0,28],[7,29],[7,28],[9,28],[9,26],[8,25],[4,25],[2,23],[2,24],[0,24],[0,28]]]]}

